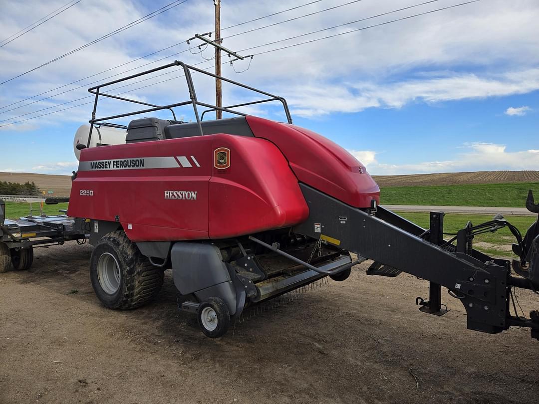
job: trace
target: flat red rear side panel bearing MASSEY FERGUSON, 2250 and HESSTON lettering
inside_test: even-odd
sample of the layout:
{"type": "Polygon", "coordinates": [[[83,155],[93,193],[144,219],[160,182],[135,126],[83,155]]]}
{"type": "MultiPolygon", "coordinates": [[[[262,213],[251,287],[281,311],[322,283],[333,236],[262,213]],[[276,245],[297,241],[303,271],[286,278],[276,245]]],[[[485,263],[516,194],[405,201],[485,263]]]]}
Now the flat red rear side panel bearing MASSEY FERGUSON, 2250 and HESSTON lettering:
{"type": "Polygon", "coordinates": [[[107,221],[118,215],[134,241],[207,239],[208,183],[213,166],[209,150],[209,136],[84,149],[68,214],[107,221]],[[82,162],[174,156],[195,156],[200,167],[191,163],[184,168],[173,159],[176,167],[81,170],[82,162]],[[195,191],[197,199],[164,199],[167,190],[195,191]],[[80,191],[93,191],[93,196],[81,196],[80,191]]]}

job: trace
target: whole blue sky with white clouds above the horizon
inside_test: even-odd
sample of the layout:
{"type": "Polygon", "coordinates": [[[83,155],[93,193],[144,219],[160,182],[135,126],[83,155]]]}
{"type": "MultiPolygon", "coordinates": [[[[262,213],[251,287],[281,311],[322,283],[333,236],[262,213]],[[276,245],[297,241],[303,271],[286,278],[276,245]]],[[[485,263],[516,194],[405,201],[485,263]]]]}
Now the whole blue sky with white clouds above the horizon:
{"type": "MultiPolygon", "coordinates": [[[[301,7],[223,30],[223,45],[242,50],[421,3],[419,0],[361,0],[343,5],[350,1],[320,0],[302,6],[309,1],[225,0],[222,3],[223,27],[294,6],[301,7]],[[334,6],[340,7],[261,28],[334,6]],[[257,28],[261,29],[226,39],[232,34],[257,28]]],[[[2,35],[7,37],[23,29],[66,2],[0,0],[2,35]]],[[[0,47],[0,81],[84,45],[170,2],[82,0],[0,47]]],[[[463,2],[465,0],[437,0],[362,23],[263,46],[252,52],[271,51],[463,2]]],[[[223,74],[286,97],[296,124],[342,145],[367,165],[372,174],[539,170],[538,19],[539,3],[535,0],[481,0],[256,55],[246,72],[237,74],[225,65],[223,74]]],[[[212,1],[188,0],[156,18],[0,85],[0,107],[4,107],[129,62],[76,85],[0,108],[0,121],[5,120],[0,122],[0,171],[65,174],[75,170],[73,135],[89,119],[91,105],[42,117],[37,115],[88,102],[81,100],[56,107],[87,96],[86,88],[91,82],[105,80],[126,69],[134,70],[123,75],[177,58],[189,64],[200,63],[199,67],[211,71],[213,62],[202,58],[211,58],[211,50],[202,55],[192,54],[187,50],[185,39],[194,33],[211,31],[212,25],[212,1]],[[130,62],[173,44],[178,45],[130,62]],[[185,52],[157,61],[181,51],[185,52]],[[78,86],[84,87],[77,89],[78,86]],[[55,95],[65,90],[70,91],[55,95]],[[50,99],[26,105],[51,95],[54,96],[50,99]],[[44,110],[37,112],[40,109],[44,110]],[[27,118],[31,119],[10,124],[27,118]]],[[[251,52],[244,52],[248,53],[251,52]]],[[[240,71],[247,65],[237,62],[234,67],[240,71]]],[[[174,75],[178,73],[172,72],[122,90],[154,103],[185,100],[182,79],[157,83],[174,75]],[[154,82],[157,83],[154,86],[129,92],[154,82]]],[[[112,79],[105,81],[108,80],[112,79]]],[[[212,102],[211,80],[195,76],[194,80],[199,99],[212,102]]],[[[248,99],[249,94],[224,87],[225,103],[248,99]]],[[[125,108],[118,103],[103,102],[99,113],[113,114],[123,112],[125,108]]],[[[250,108],[246,112],[282,119],[276,107],[250,108]]],[[[185,109],[178,111],[178,115],[192,119],[185,109]]]]}

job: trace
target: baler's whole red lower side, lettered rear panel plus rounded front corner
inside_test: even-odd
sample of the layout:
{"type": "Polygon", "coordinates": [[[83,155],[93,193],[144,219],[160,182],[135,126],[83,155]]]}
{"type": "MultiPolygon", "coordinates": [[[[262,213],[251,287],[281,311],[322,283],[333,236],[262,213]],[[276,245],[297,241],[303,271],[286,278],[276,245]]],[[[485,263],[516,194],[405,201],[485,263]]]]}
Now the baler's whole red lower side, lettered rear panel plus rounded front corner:
{"type": "Polygon", "coordinates": [[[274,144],[218,134],[82,150],[68,214],[106,221],[118,216],[131,240],[162,241],[229,238],[292,226],[307,219],[308,207],[274,144]],[[224,170],[213,167],[213,150],[219,147],[231,150],[231,165],[224,170]],[[148,168],[151,157],[157,157],[153,164],[168,166],[148,168]],[[145,159],[146,164],[110,169],[119,159],[145,159]],[[110,164],[88,170],[89,162],[110,164]],[[196,199],[165,199],[167,191],[196,192],[196,199]]]}

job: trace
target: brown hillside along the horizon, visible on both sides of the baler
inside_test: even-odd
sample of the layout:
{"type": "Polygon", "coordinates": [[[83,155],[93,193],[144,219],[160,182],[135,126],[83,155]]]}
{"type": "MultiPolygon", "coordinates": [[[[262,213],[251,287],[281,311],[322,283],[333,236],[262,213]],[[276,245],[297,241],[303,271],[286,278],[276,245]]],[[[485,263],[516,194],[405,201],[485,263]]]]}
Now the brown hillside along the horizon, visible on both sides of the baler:
{"type": "MultiPolygon", "coordinates": [[[[539,171],[446,172],[439,174],[374,176],[374,179],[381,187],[530,183],[539,182],[539,171]]],[[[42,191],[54,191],[55,196],[68,196],[71,191],[71,176],[33,174],[28,172],[0,172],[0,181],[16,183],[33,181],[42,191]]]]}

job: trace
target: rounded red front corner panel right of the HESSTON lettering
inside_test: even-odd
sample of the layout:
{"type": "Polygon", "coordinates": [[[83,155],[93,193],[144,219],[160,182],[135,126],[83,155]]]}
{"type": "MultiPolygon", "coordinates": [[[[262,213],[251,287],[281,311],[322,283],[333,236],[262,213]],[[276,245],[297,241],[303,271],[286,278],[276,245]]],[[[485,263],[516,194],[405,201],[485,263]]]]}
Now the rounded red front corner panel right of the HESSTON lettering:
{"type": "Polygon", "coordinates": [[[213,168],[210,238],[222,239],[305,221],[309,209],[298,179],[267,140],[213,135],[212,150],[230,149],[230,167],[213,168]]]}

